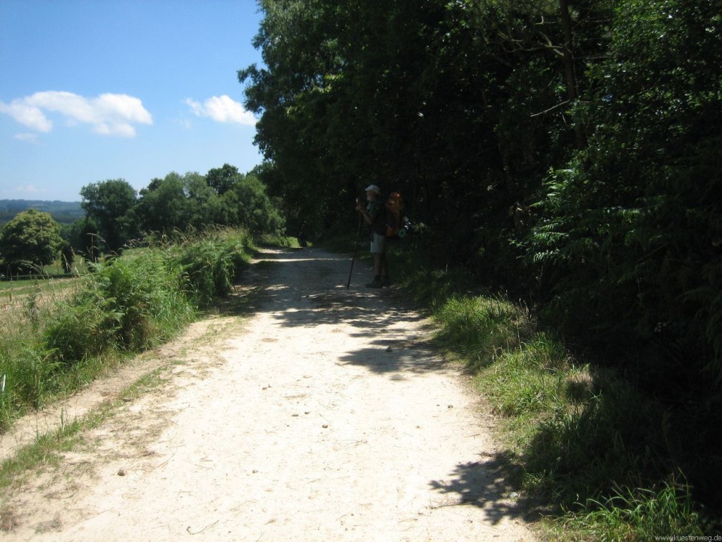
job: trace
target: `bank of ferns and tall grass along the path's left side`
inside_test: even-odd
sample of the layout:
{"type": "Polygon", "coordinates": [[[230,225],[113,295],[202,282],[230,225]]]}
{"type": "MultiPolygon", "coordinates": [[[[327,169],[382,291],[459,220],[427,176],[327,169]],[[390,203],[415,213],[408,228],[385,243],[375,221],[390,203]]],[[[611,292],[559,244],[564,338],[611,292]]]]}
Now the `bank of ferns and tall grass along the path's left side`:
{"type": "Polygon", "coordinates": [[[251,235],[240,230],[151,243],[92,264],[60,296],[38,287],[21,306],[6,306],[0,314],[0,432],[23,413],[178,335],[232,290],[255,250],[251,235]]]}

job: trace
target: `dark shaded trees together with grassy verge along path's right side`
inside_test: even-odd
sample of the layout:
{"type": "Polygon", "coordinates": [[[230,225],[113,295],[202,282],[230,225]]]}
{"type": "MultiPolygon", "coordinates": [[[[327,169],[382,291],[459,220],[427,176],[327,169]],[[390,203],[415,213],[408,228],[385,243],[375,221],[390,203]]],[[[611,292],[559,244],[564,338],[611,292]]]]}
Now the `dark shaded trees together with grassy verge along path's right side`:
{"type": "Polygon", "coordinates": [[[365,186],[401,192],[409,287],[578,538],[722,517],[719,2],[258,4],[238,77],[289,227],[351,237],[365,186]]]}

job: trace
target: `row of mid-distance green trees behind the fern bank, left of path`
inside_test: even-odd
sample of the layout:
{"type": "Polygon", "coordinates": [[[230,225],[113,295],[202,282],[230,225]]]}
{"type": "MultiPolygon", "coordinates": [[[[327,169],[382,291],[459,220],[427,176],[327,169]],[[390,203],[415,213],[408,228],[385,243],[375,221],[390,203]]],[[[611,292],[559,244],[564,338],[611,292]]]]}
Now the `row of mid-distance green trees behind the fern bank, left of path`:
{"type": "Polygon", "coordinates": [[[206,176],[172,172],[154,178],[139,194],[123,179],[100,181],[81,190],[87,212],[71,231],[84,254],[119,252],[129,241],[206,228],[245,228],[254,236],[278,235],[285,221],[253,173],[225,164],[206,176]]]}

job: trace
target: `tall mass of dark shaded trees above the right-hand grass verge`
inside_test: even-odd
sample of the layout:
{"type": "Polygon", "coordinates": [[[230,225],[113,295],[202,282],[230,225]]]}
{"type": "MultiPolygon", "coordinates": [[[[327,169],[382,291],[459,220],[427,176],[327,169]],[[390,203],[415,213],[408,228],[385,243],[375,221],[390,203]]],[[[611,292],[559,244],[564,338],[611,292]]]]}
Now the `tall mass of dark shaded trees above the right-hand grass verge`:
{"type": "Polygon", "coordinates": [[[718,2],[259,4],[264,66],[238,75],[291,231],[352,229],[366,184],[399,190],[438,264],[658,397],[719,505],[718,2]]]}

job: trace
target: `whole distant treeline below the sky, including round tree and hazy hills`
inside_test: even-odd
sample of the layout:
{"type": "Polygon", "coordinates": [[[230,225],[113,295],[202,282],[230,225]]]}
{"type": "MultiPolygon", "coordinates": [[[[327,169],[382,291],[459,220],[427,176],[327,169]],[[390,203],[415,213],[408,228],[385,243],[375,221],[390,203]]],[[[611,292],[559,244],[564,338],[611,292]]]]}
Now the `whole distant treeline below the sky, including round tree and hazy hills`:
{"type": "MultiPolygon", "coordinates": [[[[122,178],[83,186],[80,202],[6,200],[0,213],[0,266],[5,275],[37,272],[61,254],[92,261],[120,254],[157,236],[177,238],[212,228],[240,228],[252,236],[280,236],[285,219],[266,194],[257,166],[240,173],[224,164],[201,175],[168,173],[136,191],[122,178]]],[[[67,272],[67,271],[66,271],[67,272]]]]}

